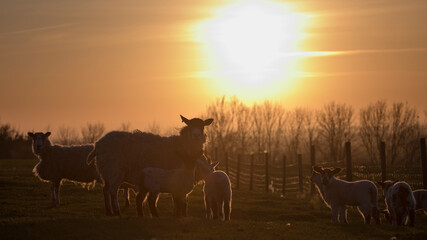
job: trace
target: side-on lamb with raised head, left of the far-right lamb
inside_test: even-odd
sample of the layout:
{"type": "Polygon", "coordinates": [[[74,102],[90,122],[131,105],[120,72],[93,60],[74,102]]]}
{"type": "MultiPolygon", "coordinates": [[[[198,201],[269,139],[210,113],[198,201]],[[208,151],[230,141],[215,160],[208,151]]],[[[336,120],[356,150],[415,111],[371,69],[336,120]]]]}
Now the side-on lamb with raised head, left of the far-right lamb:
{"type": "Polygon", "coordinates": [[[335,178],[341,168],[328,169],[313,167],[311,182],[315,184],[326,206],[331,208],[332,223],[346,223],[346,206],[357,206],[365,224],[374,218],[380,224],[378,210],[378,189],[372,181],[347,182],[335,178]]]}

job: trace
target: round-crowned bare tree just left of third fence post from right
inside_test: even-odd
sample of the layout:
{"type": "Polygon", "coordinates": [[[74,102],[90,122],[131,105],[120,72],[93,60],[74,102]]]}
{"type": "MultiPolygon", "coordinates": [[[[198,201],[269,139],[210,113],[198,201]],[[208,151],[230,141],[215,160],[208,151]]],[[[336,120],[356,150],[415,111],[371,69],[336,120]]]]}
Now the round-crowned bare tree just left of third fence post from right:
{"type": "Polygon", "coordinates": [[[344,142],[353,137],[353,108],[331,102],[317,112],[319,137],[327,144],[333,162],[344,158],[344,142]]]}

